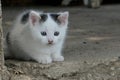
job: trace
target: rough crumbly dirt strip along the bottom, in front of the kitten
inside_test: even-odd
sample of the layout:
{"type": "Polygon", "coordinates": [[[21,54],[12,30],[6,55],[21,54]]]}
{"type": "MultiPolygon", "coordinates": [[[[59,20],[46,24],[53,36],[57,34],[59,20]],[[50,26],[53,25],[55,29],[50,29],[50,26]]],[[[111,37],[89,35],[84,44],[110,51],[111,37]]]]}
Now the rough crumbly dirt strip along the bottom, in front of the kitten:
{"type": "Polygon", "coordinates": [[[8,60],[6,66],[9,80],[120,80],[120,60],[97,65],[78,62],[42,65],[8,60]]]}

